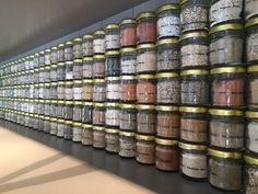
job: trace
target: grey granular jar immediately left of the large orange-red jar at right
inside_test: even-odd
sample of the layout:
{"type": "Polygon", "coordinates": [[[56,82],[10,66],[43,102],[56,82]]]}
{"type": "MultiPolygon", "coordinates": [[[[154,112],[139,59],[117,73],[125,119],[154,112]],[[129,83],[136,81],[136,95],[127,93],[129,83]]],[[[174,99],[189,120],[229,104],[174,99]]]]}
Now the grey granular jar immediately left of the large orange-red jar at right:
{"type": "Polygon", "coordinates": [[[180,102],[183,105],[209,105],[209,71],[184,70],[180,73],[180,102]]]}

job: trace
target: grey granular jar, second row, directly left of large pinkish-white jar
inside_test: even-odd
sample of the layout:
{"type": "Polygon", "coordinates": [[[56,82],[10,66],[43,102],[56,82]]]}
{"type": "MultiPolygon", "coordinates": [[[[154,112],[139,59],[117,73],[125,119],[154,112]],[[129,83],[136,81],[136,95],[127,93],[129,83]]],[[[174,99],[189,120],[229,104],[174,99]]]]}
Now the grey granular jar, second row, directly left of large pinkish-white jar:
{"type": "Polygon", "coordinates": [[[178,38],[163,38],[156,43],[157,71],[179,70],[178,38]]]}

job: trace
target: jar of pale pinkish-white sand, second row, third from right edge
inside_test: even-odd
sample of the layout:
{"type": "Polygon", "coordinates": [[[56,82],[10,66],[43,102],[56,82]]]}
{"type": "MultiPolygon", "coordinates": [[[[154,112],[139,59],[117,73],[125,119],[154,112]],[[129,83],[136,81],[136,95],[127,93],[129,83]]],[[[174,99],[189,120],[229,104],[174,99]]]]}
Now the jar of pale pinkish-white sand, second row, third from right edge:
{"type": "Polygon", "coordinates": [[[209,67],[209,34],[206,31],[181,34],[180,60],[181,69],[209,67]]]}

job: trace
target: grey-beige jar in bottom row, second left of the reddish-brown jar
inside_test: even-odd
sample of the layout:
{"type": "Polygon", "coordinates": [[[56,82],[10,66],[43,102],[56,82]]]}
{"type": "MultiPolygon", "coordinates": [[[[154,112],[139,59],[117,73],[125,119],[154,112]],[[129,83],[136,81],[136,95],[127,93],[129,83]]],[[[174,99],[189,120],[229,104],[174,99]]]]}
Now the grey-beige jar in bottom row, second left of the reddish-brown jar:
{"type": "Polygon", "coordinates": [[[119,152],[120,157],[125,158],[134,158],[136,157],[136,134],[128,133],[128,132],[120,132],[119,133],[119,152]]]}

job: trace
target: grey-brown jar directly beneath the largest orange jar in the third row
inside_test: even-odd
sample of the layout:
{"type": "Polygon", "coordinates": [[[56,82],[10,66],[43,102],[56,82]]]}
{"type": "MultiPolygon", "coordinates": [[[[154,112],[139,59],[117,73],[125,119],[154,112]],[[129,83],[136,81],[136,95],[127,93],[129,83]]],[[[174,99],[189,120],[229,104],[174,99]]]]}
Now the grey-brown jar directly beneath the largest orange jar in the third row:
{"type": "Polygon", "coordinates": [[[140,134],[156,133],[155,105],[137,105],[137,132],[140,134]]]}

